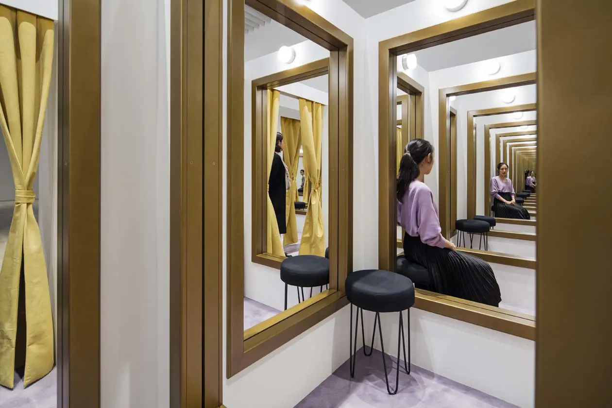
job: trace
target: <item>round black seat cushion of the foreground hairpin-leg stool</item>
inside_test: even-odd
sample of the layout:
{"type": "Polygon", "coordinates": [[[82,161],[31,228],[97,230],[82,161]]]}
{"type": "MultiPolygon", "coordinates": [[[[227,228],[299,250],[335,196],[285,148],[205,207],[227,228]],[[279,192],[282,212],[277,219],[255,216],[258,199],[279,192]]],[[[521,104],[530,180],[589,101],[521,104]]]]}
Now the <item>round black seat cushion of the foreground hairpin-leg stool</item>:
{"type": "Polygon", "coordinates": [[[412,281],[388,270],[358,270],[349,273],[345,291],[349,302],[373,312],[398,312],[414,306],[412,281]]]}

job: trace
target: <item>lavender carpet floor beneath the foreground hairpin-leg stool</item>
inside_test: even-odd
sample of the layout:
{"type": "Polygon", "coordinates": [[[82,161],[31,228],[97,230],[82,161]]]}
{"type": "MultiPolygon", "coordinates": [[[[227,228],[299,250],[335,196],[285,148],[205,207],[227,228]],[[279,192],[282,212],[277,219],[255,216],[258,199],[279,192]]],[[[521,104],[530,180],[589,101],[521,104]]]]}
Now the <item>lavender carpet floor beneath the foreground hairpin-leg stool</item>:
{"type": "MultiPolygon", "coordinates": [[[[395,387],[395,364],[392,364],[395,358],[387,355],[386,360],[390,385],[395,387]]],[[[397,395],[389,395],[381,352],[375,350],[370,357],[365,357],[359,350],[354,378],[349,374],[347,361],[294,408],[516,408],[414,365],[410,375],[401,370],[403,367],[399,391],[397,395]]]]}

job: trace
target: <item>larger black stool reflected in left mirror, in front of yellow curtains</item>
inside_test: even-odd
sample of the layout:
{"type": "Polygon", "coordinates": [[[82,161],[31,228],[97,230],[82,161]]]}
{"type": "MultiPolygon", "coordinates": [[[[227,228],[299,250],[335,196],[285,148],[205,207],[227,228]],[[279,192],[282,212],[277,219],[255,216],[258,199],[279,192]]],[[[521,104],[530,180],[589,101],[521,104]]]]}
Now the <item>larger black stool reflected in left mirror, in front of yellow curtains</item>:
{"type": "Polygon", "coordinates": [[[329,259],[316,255],[298,255],[285,259],[280,264],[280,280],[285,282],[285,310],[287,310],[287,286],[296,286],[297,302],[304,302],[304,287],[310,287],[310,296],[314,286],[329,284],[329,259]],[[300,300],[300,288],[302,300],[300,300]]]}

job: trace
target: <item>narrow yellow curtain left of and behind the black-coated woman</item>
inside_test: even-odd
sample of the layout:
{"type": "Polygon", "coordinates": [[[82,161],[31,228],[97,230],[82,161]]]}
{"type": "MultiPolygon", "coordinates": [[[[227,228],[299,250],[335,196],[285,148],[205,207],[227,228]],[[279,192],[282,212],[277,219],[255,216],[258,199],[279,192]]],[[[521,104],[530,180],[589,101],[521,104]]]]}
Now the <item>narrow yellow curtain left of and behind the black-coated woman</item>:
{"type": "MultiPolygon", "coordinates": [[[[274,147],[276,146],[276,132],[278,130],[278,108],[280,106],[280,92],[276,90],[267,91],[267,180],[270,179],[270,170],[272,169],[272,160],[274,159],[274,147]]],[[[266,184],[267,185],[267,184],[266,184]]],[[[280,242],[280,232],[278,232],[278,223],[276,221],[276,213],[272,206],[270,196],[267,195],[267,252],[276,256],[285,256],[283,244],[280,242]]]]}

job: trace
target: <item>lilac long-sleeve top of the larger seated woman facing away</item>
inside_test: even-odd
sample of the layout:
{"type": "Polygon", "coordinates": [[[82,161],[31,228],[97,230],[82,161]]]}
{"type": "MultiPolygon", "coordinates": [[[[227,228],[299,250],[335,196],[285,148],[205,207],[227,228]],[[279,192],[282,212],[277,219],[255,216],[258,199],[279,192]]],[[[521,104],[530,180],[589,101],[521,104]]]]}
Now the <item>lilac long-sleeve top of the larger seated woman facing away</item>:
{"type": "Polygon", "coordinates": [[[427,185],[414,180],[408,186],[403,199],[397,202],[397,223],[409,236],[420,237],[421,242],[431,247],[444,248],[438,207],[427,185]]]}

